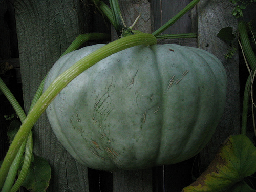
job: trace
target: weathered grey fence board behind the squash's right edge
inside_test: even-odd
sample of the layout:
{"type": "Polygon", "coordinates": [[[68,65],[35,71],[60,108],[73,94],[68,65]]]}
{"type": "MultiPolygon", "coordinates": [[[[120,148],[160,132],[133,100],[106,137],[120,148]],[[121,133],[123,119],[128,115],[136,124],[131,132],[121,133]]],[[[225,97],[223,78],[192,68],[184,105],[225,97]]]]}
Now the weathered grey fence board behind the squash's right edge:
{"type": "Polygon", "coordinates": [[[232,16],[232,7],[228,3],[228,0],[201,0],[197,7],[198,46],[220,59],[228,77],[225,112],[214,137],[201,153],[201,166],[204,169],[216,154],[219,145],[229,135],[240,133],[238,52],[232,59],[226,60],[224,54],[228,52],[230,45],[217,37],[218,32],[224,27],[237,29],[237,19],[232,16]]]}

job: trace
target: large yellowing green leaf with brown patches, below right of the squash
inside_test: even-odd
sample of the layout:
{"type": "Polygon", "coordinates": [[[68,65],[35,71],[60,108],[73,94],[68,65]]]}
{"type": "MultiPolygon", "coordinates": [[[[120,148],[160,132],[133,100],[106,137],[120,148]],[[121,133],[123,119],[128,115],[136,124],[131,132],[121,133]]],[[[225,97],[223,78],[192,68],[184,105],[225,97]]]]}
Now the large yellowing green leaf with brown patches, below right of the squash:
{"type": "Polygon", "coordinates": [[[230,136],[221,145],[219,153],[205,172],[194,183],[185,187],[183,192],[231,191],[230,187],[237,192],[240,191],[239,187],[246,187],[240,184],[243,178],[254,172],[256,172],[256,147],[245,135],[230,136]],[[238,184],[233,186],[236,183],[238,184]]]}

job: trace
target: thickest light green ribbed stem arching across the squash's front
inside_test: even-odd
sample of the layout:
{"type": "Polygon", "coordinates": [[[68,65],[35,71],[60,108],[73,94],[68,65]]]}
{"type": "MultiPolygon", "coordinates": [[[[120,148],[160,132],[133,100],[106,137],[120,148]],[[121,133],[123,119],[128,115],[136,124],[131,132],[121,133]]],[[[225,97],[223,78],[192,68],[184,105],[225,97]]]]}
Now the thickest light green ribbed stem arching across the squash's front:
{"type": "Polygon", "coordinates": [[[41,95],[34,107],[29,112],[18,133],[16,134],[11,146],[6,154],[6,157],[0,168],[0,188],[3,186],[5,177],[14,160],[19,146],[27,138],[32,126],[35,124],[37,119],[46,110],[47,106],[52,102],[56,95],[72,81],[76,76],[88,69],[100,60],[116,53],[121,50],[138,46],[138,45],[153,45],[156,44],[157,40],[151,34],[139,33],[131,36],[127,36],[116,41],[111,42],[103,46],[102,48],[94,51],[93,53],[82,58],[76,62],[71,68],[63,72],[57,77],[49,86],[49,88],[41,95]]]}

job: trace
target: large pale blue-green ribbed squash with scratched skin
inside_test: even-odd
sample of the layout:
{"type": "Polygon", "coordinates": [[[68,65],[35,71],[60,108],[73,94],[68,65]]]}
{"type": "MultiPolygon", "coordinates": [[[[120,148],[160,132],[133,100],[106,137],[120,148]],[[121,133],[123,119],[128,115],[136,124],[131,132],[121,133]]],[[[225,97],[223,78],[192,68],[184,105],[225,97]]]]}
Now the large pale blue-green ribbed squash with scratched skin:
{"type": "MultiPolygon", "coordinates": [[[[50,70],[49,84],[103,44],[73,51],[50,70]]],[[[47,108],[51,127],[80,163],[99,170],[174,164],[199,153],[223,114],[222,63],[199,48],[136,46],[84,71],[47,108]]]]}

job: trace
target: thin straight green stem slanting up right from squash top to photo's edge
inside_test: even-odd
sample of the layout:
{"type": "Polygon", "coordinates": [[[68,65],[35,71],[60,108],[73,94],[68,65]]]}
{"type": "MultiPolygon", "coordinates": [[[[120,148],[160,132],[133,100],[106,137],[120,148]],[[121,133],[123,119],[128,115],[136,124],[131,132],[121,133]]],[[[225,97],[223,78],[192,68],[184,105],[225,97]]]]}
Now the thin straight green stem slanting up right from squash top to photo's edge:
{"type": "Polygon", "coordinates": [[[191,1],[184,9],[182,9],[177,15],[175,15],[172,19],[170,19],[166,24],[160,27],[158,30],[152,33],[154,36],[158,36],[160,33],[165,31],[168,27],[173,25],[180,17],[182,17],[186,12],[192,9],[200,0],[191,1]]]}

